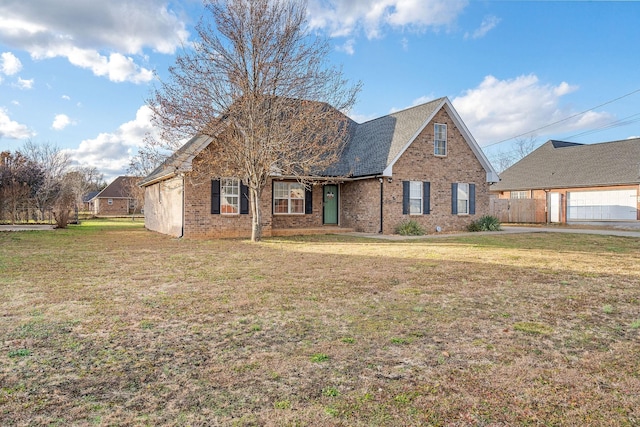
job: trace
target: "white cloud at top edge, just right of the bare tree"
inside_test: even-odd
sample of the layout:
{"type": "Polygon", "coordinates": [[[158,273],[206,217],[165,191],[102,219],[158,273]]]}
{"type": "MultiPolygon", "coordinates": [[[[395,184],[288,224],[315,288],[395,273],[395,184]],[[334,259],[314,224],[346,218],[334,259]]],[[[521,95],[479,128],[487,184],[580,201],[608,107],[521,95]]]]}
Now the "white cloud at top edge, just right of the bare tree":
{"type": "Polygon", "coordinates": [[[448,26],[467,4],[467,0],[312,0],[309,25],[326,29],[333,37],[364,31],[368,38],[377,38],[385,26],[448,26]]]}

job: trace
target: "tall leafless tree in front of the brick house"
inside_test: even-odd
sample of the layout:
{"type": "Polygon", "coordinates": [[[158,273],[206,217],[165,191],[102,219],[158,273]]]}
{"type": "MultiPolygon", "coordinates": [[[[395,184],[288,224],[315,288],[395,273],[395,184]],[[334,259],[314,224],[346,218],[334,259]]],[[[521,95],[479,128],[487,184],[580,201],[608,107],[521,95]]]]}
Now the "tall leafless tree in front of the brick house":
{"type": "Polygon", "coordinates": [[[193,50],[178,56],[170,80],[148,104],[165,147],[194,135],[213,138],[194,174],[242,179],[257,241],[269,176],[305,182],[335,162],[349,120],[339,111],[353,106],[360,84],[350,86],[327,64],[327,40],[306,29],[306,1],[207,0],[205,6],[213,25],[200,21],[193,50]]]}

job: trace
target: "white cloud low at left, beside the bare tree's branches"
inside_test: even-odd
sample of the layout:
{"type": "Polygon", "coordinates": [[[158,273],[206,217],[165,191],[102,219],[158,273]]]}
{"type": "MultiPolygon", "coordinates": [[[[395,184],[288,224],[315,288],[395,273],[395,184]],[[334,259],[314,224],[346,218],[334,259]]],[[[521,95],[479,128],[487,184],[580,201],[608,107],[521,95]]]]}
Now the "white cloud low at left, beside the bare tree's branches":
{"type": "Polygon", "coordinates": [[[153,113],[142,106],[136,118],[118,127],[114,132],[101,133],[93,139],[85,139],[77,149],[67,150],[72,159],[83,166],[95,166],[106,176],[116,177],[126,172],[129,161],[144,144],[147,134],[153,134],[153,113]]]}

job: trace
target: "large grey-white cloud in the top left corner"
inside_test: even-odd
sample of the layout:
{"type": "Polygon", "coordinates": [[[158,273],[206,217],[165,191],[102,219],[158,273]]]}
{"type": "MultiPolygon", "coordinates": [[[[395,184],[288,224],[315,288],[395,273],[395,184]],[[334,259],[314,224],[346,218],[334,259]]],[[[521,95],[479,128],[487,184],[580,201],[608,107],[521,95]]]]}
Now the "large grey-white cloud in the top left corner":
{"type": "Polygon", "coordinates": [[[116,82],[149,81],[151,71],[133,56],[144,61],[145,49],[172,54],[188,37],[185,22],[164,0],[0,3],[0,43],[35,59],[67,58],[116,82]]]}

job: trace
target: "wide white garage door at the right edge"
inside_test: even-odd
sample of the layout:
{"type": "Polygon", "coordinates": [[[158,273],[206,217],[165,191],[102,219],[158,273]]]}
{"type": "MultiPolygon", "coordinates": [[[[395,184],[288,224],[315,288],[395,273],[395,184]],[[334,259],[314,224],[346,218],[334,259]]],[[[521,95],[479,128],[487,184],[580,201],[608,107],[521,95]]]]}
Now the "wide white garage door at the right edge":
{"type": "Polygon", "coordinates": [[[636,190],[572,191],[567,193],[567,221],[635,221],[636,190]]]}

